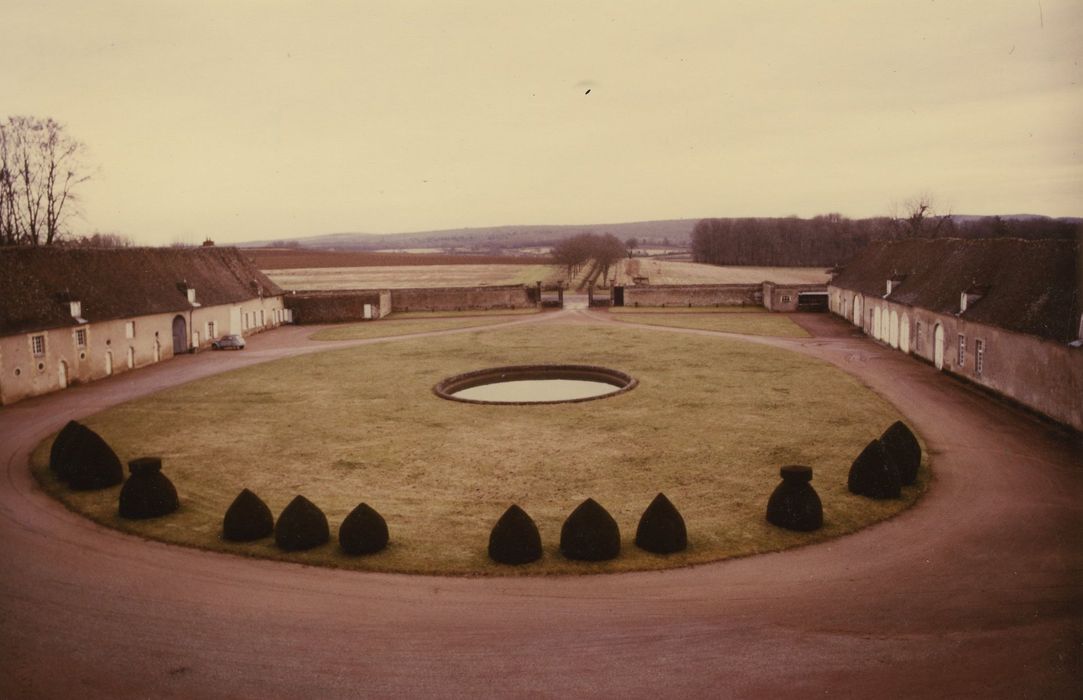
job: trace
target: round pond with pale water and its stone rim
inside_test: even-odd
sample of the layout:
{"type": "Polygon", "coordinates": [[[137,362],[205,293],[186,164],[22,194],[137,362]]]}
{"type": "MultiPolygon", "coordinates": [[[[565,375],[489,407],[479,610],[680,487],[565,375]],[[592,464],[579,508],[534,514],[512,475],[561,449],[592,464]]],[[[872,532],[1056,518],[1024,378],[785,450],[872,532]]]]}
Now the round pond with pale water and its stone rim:
{"type": "Polygon", "coordinates": [[[441,399],[466,403],[574,403],[630,391],[631,375],[609,367],[553,364],[490,367],[444,379],[432,388],[441,399]]]}

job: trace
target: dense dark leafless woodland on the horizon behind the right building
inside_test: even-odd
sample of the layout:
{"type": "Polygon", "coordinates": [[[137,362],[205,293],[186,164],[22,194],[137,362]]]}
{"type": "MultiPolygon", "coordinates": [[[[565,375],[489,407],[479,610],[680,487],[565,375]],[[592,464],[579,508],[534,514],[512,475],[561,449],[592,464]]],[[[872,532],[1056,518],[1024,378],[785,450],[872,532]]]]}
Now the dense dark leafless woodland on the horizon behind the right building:
{"type": "Polygon", "coordinates": [[[908,237],[1072,238],[1083,230],[1074,220],[911,216],[847,219],[703,219],[692,230],[696,262],[765,267],[843,264],[873,241],[908,237]]]}

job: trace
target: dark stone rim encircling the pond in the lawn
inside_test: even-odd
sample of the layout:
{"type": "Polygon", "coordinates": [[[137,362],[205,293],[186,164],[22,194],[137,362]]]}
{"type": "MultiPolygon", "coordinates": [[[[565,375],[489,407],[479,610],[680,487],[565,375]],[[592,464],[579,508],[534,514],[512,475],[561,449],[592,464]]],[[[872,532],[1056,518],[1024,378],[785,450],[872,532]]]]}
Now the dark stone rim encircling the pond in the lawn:
{"type": "Polygon", "coordinates": [[[609,399],[631,391],[639,385],[639,380],[626,372],[589,364],[521,364],[501,367],[486,367],[474,370],[464,374],[457,374],[438,383],[432,392],[441,399],[458,401],[459,403],[477,403],[484,405],[500,406],[536,406],[550,405],[554,403],[583,403],[584,401],[598,401],[609,399]],[[580,381],[597,381],[617,387],[616,391],[603,393],[597,397],[585,397],[579,399],[557,399],[552,401],[482,401],[479,399],[464,399],[455,393],[464,389],[481,387],[490,384],[503,384],[507,381],[522,381],[529,379],[576,379],[580,381]]]}

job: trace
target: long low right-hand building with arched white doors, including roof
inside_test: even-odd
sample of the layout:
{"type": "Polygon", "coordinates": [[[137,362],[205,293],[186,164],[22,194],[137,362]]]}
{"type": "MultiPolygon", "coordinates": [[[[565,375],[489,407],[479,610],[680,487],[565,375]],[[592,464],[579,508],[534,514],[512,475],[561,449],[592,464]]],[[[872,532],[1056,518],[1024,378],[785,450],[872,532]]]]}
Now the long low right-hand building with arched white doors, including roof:
{"type": "Polygon", "coordinates": [[[828,285],[832,312],[884,345],[1083,430],[1075,241],[876,243],[828,285]]]}

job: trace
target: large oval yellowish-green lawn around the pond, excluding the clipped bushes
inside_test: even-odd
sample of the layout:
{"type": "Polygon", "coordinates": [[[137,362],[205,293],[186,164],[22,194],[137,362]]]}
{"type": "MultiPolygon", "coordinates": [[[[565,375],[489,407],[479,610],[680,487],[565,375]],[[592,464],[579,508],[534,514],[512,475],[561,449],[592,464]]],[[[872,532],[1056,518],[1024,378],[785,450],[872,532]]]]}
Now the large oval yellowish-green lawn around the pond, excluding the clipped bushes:
{"type": "MultiPolygon", "coordinates": [[[[380,324],[371,324],[378,326],[380,324]]],[[[891,517],[904,498],[849,494],[853,457],[899,416],[840,371],[783,350],[706,337],[603,326],[521,326],[406,339],[287,359],[175,387],[92,416],[121,458],[160,455],[181,509],[152,521],[116,516],[119,487],[71,492],[34,456],[43,488],[108,527],[195,547],[358,570],[548,574],[662,569],[820,542],[891,517]],[[473,405],[436,398],[440,379],[531,362],[603,364],[640,385],[600,401],[473,405]],[[765,520],[779,467],[807,464],[824,502],[822,530],[799,534],[765,520]],[[337,543],[300,554],[270,540],[220,539],[242,488],[278,514],[303,494],[332,533],[360,502],[388,520],[390,547],[351,558],[337,543]],[[632,545],[636,524],[664,491],[683,514],[690,548],[668,557],[632,545]],[[621,526],[616,560],[558,553],[563,519],[591,496],[621,526]],[[486,557],[490,529],[511,503],[538,523],[545,556],[521,568],[486,557]]]]}

